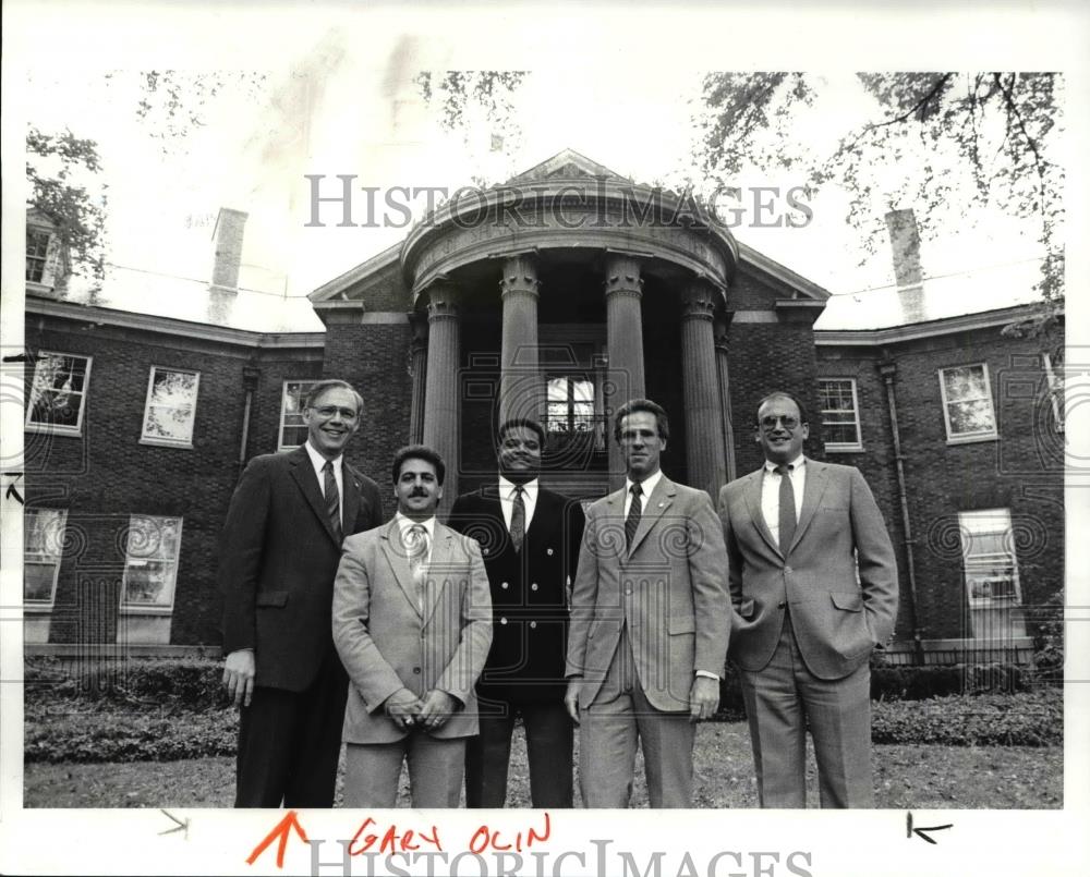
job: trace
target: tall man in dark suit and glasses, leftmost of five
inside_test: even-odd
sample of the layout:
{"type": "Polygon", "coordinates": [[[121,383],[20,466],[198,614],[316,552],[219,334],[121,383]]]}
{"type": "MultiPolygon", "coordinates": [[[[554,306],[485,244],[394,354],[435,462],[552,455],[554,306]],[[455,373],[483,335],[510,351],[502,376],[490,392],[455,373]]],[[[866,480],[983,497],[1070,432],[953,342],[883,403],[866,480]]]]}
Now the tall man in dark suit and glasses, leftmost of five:
{"type": "Polygon", "coordinates": [[[316,383],[306,443],[250,462],[219,548],[223,685],[241,707],[237,807],[330,807],[348,677],[330,633],[344,535],[378,526],[377,485],[344,462],[363,400],[316,383]]]}

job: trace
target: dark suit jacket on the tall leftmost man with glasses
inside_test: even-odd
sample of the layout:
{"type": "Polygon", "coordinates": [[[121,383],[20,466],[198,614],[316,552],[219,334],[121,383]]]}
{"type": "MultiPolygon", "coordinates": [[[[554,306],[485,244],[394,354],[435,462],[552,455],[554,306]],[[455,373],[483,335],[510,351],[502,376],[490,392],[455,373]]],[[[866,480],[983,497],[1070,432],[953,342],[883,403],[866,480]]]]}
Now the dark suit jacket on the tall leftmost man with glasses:
{"type": "MultiPolygon", "coordinates": [[[[341,528],[382,523],[378,486],[346,461],[341,528]]],[[[223,653],[253,648],[256,684],[303,691],[332,648],[329,614],[340,544],[305,448],[255,456],[219,546],[223,653]]]]}

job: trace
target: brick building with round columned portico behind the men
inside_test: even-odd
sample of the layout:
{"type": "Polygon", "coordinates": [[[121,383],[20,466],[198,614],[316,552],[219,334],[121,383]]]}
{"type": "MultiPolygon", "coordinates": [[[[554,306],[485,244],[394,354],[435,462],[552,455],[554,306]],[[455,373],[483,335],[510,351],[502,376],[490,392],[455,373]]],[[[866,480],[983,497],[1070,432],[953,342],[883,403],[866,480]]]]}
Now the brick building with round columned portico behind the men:
{"type": "Polygon", "coordinates": [[[671,415],[664,470],[714,496],[761,464],[756,403],[786,389],[810,411],[807,453],[859,466],[891,527],[895,658],[1024,658],[1062,594],[1052,364],[1001,333],[1031,280],[967,313],[923,281],[905,214],[898,288],[865,302],[572,151],[448,203],[308,301],[240,285],[245,220],[220,212],[207,287],[116,272],[98,304],[43,282],[48,226],[28,231],[28,653],[217,654],[231,491],[305,438],[300,399],[326,376],[366,400],[351,461],[382,480],[396,448],[429,443],[447,507],[494,475],[509,416],[546,424],[545,482],[601,496],[623,468],[609,413],[638,395],[671,415]]]}

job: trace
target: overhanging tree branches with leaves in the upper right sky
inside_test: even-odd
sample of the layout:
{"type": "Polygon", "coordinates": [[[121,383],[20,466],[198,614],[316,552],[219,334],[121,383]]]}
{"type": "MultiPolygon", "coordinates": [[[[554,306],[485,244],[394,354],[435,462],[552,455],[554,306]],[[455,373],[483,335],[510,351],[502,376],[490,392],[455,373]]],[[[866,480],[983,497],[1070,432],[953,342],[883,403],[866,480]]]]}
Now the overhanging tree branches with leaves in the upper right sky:
{"type": "Polygon", "coordinates": [[[965,216],[998,204],[1032,219],[1044,256],[1038,289],[1047,321],[1063,303],[1064,170],[1062,77],[1052,73],[859,74],[874,115],[831,149],[801,142],[796,120],[811,111],[824,81],[807,73],[712,73],[703,84],[697,162],[722,183],[746,165],[804,173],[816,188],[837,182],[850,195],[848,222],[873,253],[881,240],[874,203],[929,215],[965,216]],[[892,187],[891,172],[898,174],[892,187]]]}

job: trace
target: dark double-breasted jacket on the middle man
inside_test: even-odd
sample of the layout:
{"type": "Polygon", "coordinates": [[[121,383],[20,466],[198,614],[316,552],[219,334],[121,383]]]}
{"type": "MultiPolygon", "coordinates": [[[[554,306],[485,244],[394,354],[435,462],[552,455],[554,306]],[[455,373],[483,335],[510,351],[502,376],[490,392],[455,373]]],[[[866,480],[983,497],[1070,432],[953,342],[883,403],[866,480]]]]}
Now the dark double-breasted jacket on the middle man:
{"type": "Polygon", "coordinates": [[[492,649],[479,694],[520,703],[564,699],[568,580],[574,581],[579,563],[582,506],[538,487],[521,551],[511,545],[498,484],[458,497],[449,524],[481,544],[492,589],[492,649]]]}

